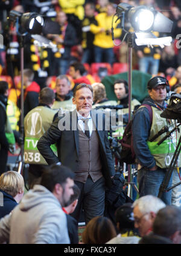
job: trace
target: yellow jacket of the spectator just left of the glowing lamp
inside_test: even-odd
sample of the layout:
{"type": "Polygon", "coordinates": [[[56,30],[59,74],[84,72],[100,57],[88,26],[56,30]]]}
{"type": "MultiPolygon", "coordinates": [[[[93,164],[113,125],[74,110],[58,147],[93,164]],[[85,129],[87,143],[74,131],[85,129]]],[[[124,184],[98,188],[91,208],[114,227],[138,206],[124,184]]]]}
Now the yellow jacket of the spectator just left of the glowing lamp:
{"type": "MultiPolygon", "coordinates": [[[[112,35],[106,35],[105,32],[101,32],[101,29],[110,30],[112,27],[112,16],[107,16],[107,13],[99,13],[95,19],[98,22],[98,25],[90,24],[90,32],[95,34],[94,45],[102,48],[112,48],[114,46],[112,41],[112,35]]],[[[118,17],[114,17],[113,19],[113,33],[114,38],[119,38],[121,36],[121,29],[116,29],[117,25],[120,21],[116,21],[118,17]]]]}

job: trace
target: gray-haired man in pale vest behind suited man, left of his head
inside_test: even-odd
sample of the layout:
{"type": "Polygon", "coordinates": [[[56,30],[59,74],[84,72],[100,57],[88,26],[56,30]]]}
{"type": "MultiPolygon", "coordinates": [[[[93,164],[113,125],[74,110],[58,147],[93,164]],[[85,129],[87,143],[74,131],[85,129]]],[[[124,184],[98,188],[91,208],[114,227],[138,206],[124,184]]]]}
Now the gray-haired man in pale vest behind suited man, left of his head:
{"type": "Polygon", "coordinates": [[[52,109],[74,110],[72,104],[73,93],[71,91],[71,81],[68,76],[60,75],[56,78],[56,100],[52,109]]]}

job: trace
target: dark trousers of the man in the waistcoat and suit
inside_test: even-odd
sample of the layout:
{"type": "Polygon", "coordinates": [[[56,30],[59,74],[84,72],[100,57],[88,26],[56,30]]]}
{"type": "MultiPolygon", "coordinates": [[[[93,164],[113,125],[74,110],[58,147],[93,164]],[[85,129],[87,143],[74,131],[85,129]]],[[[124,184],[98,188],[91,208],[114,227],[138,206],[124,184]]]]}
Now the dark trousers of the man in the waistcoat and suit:
{"type": "Polygon", "coordinates": [[[104,215],[105,207],[105,180],[104,177],[95,183],[88,177],[86,183],[75,181],[80,189],[80,197],[75,211],[71,214],[77,221],[83,207],[86,224],[94,217],[104,215]]]}

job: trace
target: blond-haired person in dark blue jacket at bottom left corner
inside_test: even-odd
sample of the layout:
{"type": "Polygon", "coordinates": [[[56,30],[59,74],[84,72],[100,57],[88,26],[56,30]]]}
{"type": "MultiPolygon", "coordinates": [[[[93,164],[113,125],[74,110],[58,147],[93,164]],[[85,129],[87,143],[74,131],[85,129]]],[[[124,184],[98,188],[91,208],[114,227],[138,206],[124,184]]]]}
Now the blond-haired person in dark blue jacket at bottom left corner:
{"type": "Polygon", "coordinates": [[[0,177],[0,218],[10,214],[23,195],[24,178],[22,175],[13,170],[2,173],[0,177]]]}

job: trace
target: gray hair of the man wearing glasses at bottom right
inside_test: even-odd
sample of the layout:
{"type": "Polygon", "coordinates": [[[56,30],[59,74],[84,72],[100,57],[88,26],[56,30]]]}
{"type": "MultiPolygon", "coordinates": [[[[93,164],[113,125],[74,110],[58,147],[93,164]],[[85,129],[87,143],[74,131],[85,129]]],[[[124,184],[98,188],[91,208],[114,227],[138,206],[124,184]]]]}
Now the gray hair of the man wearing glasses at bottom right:
{"type": "Polygon", "coordinates": [[[138,206],[139,211],[142,214],[147,214],[147,212],[157,212],[164,208],[166,204],[158,197],[154,197],[153,195],[145,195],[141,197],[133,203],[133,207],[138,206]]]}

